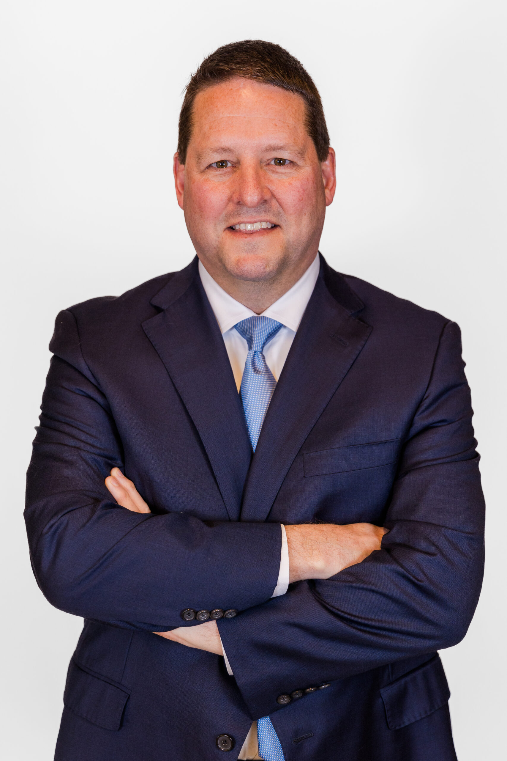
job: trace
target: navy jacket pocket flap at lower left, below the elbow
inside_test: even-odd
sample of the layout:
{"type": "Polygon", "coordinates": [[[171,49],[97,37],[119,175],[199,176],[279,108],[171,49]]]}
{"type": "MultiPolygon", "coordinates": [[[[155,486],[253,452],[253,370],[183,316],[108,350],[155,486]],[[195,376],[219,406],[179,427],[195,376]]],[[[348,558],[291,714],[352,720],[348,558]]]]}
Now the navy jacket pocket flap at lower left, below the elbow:
{"type": "Polygon", "coordinates": [[[93,677],[71,661],[63,702],[72,713],[97,724],[98,727],[117,731],[122,723],[123,709],[128,696],[126,690],[99,677],[93,677]]]}

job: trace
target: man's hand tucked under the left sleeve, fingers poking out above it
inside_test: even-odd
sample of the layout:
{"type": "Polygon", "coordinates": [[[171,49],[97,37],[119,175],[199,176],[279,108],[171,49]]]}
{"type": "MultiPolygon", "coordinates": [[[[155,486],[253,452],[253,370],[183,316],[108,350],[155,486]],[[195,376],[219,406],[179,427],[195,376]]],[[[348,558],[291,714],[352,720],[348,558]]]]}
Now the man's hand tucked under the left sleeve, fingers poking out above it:
{"type": "MultiPolygon", "coordinates": [[[[125,478],[119,468],[113,468],[111,475],[107,476],[106,487],[122,508],[134,513],[150,512],[150,508],[135,485],[128,478],[125,478]]],[[[173,642],[179,642],[180,645],[186,645],[187,648],[197,648],[198,650],[207,650],[208,653],[223,655],[216,621],[207,621],[198,626],[179,626],[170,632],[154,632],[154,634],[172,639],[173,642]]]]}

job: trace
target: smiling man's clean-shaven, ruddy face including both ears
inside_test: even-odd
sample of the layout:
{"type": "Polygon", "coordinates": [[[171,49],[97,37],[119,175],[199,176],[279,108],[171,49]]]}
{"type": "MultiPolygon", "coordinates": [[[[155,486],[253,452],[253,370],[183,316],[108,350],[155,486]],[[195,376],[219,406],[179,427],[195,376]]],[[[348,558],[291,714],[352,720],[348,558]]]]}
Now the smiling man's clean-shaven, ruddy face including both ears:
{"type": "Polygon", "coordinates": [[[334,195],[334,153],[318,160],[303,98],[235,78],[195,98],[176,193],[192,243],[219,281],[299,278],[334,195]]]}

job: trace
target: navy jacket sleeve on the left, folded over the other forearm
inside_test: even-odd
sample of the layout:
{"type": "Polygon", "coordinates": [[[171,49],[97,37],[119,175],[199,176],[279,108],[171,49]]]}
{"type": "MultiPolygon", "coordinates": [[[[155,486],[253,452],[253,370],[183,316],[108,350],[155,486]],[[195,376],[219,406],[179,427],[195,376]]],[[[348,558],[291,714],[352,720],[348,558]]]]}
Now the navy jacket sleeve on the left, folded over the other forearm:
{"type": "Polygon", "coordinates": [[[178,505],[167,514],[116,505],[104,479],[122,468],[122,441],[68,310],[50,349],[25,510],[33,571],[49,602],[115,626],[165,631],[182,626],[185,608],[242,610],[268,600],[280,524],[208,525],[178,505]]]}

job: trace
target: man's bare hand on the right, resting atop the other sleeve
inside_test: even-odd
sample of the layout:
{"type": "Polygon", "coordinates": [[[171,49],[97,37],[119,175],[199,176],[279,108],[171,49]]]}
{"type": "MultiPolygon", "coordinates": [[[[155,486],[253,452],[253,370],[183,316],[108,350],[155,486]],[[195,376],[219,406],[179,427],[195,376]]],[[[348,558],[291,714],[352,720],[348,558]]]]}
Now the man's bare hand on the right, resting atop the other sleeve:
{"type": "Polygon", "coordinates": [[[330,578],[367,558],[388,529],[372,524],[299,524],[286,526],[289,581],[330,578]]]}

